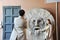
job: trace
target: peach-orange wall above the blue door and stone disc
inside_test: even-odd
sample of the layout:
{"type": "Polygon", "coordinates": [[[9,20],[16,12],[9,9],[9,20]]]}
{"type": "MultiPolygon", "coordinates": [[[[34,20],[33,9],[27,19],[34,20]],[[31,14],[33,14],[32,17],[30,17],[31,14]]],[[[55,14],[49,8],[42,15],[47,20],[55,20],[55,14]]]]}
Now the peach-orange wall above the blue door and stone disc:
{"type": "Polygon", "coordinates": [[[45,3],[45,0],[0,0],[0,22],[3,18],[3,6],[21,6],[25,11],[32,8],[45,8],[56,19],[55,3],[45,3]]]}

